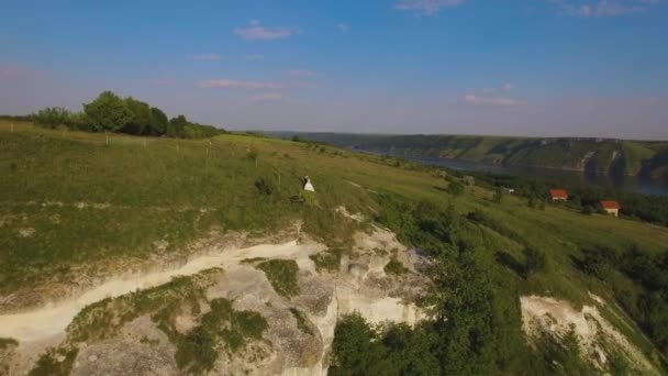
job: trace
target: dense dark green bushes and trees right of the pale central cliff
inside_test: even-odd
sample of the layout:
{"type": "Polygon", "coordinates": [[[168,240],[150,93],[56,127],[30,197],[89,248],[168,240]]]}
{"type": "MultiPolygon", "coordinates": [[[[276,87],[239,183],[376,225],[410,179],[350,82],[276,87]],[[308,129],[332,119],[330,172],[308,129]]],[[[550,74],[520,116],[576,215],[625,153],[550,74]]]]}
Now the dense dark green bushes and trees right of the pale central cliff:
{"type": "Polygon", "coordinates": [[[478,226],[453,207],[428,201],[381,195],[380,206],[377,220],[432,259],[432,285],[423,300],[431,320],[410,329],[345,318],[336,328],[331,374],[544,373],[520,332],[517,291],[494,274],[478,226]]]}

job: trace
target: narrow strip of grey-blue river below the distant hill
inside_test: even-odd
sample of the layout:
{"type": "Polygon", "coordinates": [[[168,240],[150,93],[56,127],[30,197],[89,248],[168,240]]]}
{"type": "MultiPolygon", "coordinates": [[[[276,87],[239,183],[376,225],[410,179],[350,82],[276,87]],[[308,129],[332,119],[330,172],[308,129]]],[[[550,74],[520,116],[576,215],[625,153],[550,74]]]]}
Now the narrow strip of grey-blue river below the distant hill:
{"type": "Polygon", "coordinates": [[[603,174],[590,174],[580,172],[569,172],[563,169],[542,168],[542,167],[516,167],[469,162],[461,159],[443,158],[419,158],[401,155],[398,157],[422,162],[430,165],[443,166],[461,172],[483,172],[494,174],[508,174],[532,177],[546,177],[570,184],[586,184],[614,188],[619,190],[638,192],[653,196],[668,196],[668,180],[652,179],[637,176],[608,176],[603,174]]]}

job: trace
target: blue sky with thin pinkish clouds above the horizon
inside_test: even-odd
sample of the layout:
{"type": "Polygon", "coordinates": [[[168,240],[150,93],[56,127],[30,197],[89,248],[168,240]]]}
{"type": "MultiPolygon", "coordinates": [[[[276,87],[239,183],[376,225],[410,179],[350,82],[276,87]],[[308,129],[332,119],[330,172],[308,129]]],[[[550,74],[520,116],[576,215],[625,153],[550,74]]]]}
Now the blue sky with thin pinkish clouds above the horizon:
{"type": "Polygon", "coordinates": [[[668,140],[668,0],[0,2],[0,113],[668,140]]]}

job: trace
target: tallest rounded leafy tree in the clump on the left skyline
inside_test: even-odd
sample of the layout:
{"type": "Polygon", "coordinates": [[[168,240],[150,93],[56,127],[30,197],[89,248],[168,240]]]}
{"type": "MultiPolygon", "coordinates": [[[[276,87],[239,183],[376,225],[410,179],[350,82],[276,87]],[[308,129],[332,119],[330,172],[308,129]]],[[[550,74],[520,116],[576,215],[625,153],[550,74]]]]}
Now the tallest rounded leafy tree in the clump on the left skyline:
{"type": "Polygon", "coordinates": [[[112,91],[103,91],[92,102],[84,104],[84,112],[94,132],[118,132],[133,115],[127,103],[112,91]]]}

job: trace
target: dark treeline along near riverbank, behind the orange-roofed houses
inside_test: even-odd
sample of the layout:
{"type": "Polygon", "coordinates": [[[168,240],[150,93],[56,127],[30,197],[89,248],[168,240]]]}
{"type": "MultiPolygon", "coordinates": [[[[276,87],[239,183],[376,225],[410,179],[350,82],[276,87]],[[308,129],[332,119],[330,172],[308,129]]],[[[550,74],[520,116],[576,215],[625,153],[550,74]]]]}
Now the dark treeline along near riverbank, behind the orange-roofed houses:
{"type": "Polygon", "coordinates": [[[564,188],[569,195],[565,204],[583,213],[595,212],[601,200],[615,200],[622,206],[621,214],[626,218],[668,225],[668,197],[627,192],[600,186],[554,181],[549,178],[490,173],[467,174],[475,175],[477,181],[488,188],[512,188],[515,190],[515,195],[533,198],[537,201],[548,200],[550,188],[564,188]]]}

